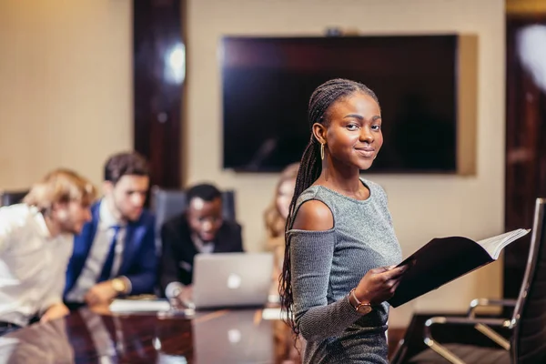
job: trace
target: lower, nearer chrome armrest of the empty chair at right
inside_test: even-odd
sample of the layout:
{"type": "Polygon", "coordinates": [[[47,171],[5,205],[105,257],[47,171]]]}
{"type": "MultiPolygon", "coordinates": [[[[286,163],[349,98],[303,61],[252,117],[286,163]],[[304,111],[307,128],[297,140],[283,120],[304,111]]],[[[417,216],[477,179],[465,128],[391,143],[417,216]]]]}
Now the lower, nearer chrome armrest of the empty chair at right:
{"type": "MultiPolygon", "coordinates": [[[[447,317],[441,317],[441,316],[428,319],[425,322],[425,329],[424,329],[423,341],[425,342],[425,344],[430,349],[436,351],[438,354],[440,354],[441,357],[450,361],[451,363],[465,364],[465,362],[462,359],[460,359],[458,356],[456,356],[453,352],[451,352],[450,349],[447,349],[446,347],[441,345],[439,342],[437,342],[434,338],[432,338],[430,327],[433,325],[443,325],[443,324],[472,325],[476,329],[478,329],[479,325],[483,325],[483,326],[489,325],[489,326],[496,326],[501,328],[510,328],[511,321],[509,319],[471,319],[471,318],[460,318],[460,317],[447,318],[447,317]]],[[[482,332],[480,329],[478,330],[482,332]]],[[[489,337],[489,335],[487,334],[486,336],[489,337]]],[[[506,340],[504,338],[501,338],[500,335],[499,337],[500,338],[493,339],[493,341],[497,342],[497,339],[506,340]]],[[[497,343],[499,344],[499,342],[497,343]]],[[[510,348],[510,343],[508,343],[508,345],[510,348]]],[[[506,349],[503,345],[501,345],[501,347],[506,349]]]]}

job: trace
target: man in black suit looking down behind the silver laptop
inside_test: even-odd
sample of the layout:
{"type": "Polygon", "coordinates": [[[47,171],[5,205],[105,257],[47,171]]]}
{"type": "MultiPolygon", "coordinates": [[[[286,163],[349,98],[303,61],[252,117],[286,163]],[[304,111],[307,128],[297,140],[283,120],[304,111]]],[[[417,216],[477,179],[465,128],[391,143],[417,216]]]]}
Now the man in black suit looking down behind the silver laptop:
{"type": "Polygon", "coordinates": [[[222,218],[222,195],[217,187],[202,184],[187,190],[185,213],[161,228],[162,291],[181,291],[193,280],[197,254],[242,252],[241,227],[222,218]]]}

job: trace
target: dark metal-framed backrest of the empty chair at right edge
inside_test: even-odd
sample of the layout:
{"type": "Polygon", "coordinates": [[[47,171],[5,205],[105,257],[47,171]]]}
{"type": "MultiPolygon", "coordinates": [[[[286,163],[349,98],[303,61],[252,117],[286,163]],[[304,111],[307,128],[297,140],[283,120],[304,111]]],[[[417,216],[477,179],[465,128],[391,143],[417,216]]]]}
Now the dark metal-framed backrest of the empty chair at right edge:
{"type": "Polygon", "coordinates": [[[546,198],[537,198],[529,258],[512,319],[512,363],[546,363],[545,207],[546,198]]]}

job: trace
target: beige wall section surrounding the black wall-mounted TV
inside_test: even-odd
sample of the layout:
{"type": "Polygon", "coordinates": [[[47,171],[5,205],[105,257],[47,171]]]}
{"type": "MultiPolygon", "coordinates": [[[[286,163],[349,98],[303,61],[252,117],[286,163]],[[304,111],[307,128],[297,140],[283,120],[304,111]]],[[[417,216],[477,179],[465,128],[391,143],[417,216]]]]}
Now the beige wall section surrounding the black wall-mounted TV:
{"type": "MultiPolygon", "coordinates": [[[[221,169],[221,35],[320,35],[327,26],[363,34],[475,34],[479,38],[478,173],[457,176],[374,176],[389,194],[404,254],[437,236],[486,238],[503,229],[504,1],[503,0],[188,0],[187,177],[216,180],[238,192],[238,216],[248,250],[263,247],[261,212],[277,175],[221,169]]],[[[388,122],[388,120],[386,120],[388,122]]],[[[257,126],[259,127],[259,126],[257,126]]],[[[385,143],[389,143],[385,140],[385,143]]],[[[477,296],[501,292],[501,264],[397,308],[395,326],[412,309],[460,310],[477,296]]]]}

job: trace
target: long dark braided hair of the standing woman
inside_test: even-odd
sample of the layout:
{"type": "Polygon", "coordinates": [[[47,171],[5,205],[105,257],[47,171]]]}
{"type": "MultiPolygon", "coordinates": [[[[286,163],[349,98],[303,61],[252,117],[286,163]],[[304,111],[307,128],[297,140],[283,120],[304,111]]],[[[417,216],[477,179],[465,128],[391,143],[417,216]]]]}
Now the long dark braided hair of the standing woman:
{"type": "Polygon", "coordinates": [[[311,138],[308,142],[308,146],[303,152],[303,157],[301,157],[298,177],[296,177],[296,187],[294,188],[294,196],[290,202],[285,227],[285,256],[282,273],[278,279],[280,305],[286,311],[286,322],[296,335],[298,335],[299,329],[294,321],[294,297],[292,295],[292,275],[290,269],[290,238],[288,238],[286,232],[292,227],[296,212],[296,202],[298,201],[299,195],[310,187],[320,177],[320,173],[322,172],[320,144],[315,136],[313,136],[312,127],[315,123],[328,126],[329,118],[327,112],[329,107],[335,102],[359,92],[372,97],[379,105],[378,97],[367,86],[360,84],[359,82],[342,78],[335,78],[320,85],[309,99],[308,123],[311,128],[311,138]]]}

